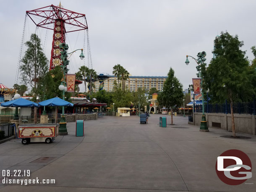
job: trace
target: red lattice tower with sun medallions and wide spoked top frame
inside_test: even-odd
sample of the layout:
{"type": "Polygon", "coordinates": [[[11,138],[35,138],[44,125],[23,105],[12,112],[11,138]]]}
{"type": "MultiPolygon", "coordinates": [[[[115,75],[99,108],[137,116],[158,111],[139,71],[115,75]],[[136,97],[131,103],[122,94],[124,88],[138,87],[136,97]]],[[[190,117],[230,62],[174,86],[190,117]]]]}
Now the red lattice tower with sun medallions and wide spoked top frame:
{"type": "Polygon", "coordinates": [[[36,26],[53,30],[50,70],[57,65],[62,65],[59,44],[65,43],[65,34],[88,29],[85,14],[64,9],[61,5],[29,10],[26,14],[36,26]],[[78,18],[84,18],[85,23],[78,21],[78,18]]]}

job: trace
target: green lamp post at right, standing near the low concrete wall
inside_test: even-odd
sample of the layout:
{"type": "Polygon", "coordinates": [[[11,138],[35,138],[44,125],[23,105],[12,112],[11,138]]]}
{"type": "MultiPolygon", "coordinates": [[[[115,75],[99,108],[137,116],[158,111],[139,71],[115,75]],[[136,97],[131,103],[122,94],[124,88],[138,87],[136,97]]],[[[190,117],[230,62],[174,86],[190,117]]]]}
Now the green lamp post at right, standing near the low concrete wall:
{"type": "MultiPolygon", "coordinates": [[[[189,64],[188,57],[192,57],[196,61],[197,65],[198,65],[198,66],[196,66],[196,70],[198,71],[198,73],[196,73],[196,76],[198,78],[201,78],[201,85],[203,84],[203,78],[202,78],[202,73],[201,73],[201,65],[206,60],[205,56],[206,56],[206,52],[205,51],[199,52],[197,54],[197,57],[198,57],[197,59],[195,59],[192,56],[186,55],[187,59],[185,61],[186,65],[189,64]]],[[[208,129],[208,126],[207,126],[206,117],[205,117],[205,114],[204,114],[204,92],[203,91],[202,91],[202,97],[203,97],[203,100],[202,100],[203,114],[202,114],[202,118],[201,118],[200,131],[209,132],[209,129],[208,129]]]]}

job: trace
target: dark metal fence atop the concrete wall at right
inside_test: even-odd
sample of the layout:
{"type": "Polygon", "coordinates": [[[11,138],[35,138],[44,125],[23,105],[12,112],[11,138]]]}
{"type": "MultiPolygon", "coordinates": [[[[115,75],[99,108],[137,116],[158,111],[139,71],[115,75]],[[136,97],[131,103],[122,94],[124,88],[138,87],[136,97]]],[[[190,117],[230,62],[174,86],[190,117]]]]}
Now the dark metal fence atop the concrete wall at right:
{"type": "MultiPolygon", "coordinates": [[[[233,103],[233,113],[256,115],[255,106],[255,101],[246,103],[233,103]]],[[[203,112],[203,105],[195,105],[195,112],[203,112]]],[[[204,112],[231,114],[231,107],[227,102],[224,104],[207,104],[205,102],[204,112]]]]}

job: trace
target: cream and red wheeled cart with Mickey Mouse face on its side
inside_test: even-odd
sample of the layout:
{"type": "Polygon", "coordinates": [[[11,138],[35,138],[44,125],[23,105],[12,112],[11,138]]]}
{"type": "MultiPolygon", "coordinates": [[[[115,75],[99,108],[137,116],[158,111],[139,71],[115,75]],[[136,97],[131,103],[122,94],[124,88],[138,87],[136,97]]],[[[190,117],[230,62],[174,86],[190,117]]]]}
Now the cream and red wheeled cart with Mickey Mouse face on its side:
{"type": "Polygon", "coordinates": [[[22,139],[21,143],[23,144],[31,142],[52,143],[58,133],[58,124],[23,124],[18,126],[18,138],[22,139]]]}

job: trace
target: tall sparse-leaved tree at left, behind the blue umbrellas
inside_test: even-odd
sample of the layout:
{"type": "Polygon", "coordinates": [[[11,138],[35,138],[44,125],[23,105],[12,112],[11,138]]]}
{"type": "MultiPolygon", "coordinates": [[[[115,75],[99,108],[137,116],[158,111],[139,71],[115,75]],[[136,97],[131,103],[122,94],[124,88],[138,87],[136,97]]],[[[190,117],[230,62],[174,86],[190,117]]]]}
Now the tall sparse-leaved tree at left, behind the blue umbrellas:
{"type": "Polygon", "coordinates": [[[41,47],[41,40],[36,34],[31,34],[30,40],[25,43],[27,50],[21,62],[21,79],[27,86],[31,86],[34,100],[38,94],[38,83],[44,78],[49,70],[47,57],[41,47]]]}

